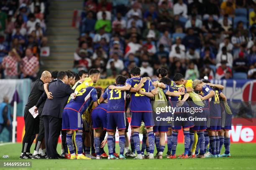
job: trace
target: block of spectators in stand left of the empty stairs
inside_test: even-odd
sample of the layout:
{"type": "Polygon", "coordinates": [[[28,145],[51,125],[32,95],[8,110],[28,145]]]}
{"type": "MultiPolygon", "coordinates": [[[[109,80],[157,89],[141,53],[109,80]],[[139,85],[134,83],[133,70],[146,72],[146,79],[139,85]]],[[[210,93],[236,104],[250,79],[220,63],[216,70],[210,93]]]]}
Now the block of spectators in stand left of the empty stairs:
{"type": "Polygon", "coordinates": [[[0,1],[1,78],[36,80],[47,13],[48,0],[0,1]]]}

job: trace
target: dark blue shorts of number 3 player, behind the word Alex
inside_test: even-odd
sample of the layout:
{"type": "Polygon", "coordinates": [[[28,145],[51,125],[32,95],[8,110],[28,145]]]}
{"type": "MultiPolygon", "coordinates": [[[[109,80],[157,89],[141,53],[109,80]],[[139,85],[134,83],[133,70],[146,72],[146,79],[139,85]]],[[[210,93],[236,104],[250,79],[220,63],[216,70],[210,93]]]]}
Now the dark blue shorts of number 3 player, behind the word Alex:
{"type": "Polygon", "coordinates": [[[173,130],[182,130],[182,128],[192,128],[194,126],[194,122],[189,120],[189,117],[191,116],[190,113],[174,113],[173,115],[173,130]],[[179,120],[177,120],[177,117],[179,118],[179,120]],[[180,120],[180,118],[184,118],[187,120],[180,120]]]}

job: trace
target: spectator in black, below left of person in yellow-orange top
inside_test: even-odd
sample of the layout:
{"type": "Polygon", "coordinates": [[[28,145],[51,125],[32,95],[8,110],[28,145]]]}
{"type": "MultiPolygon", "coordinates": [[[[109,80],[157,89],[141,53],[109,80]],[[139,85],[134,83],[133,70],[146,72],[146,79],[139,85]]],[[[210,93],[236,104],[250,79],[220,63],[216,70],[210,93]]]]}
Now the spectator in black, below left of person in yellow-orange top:
{"type": "Polygon", "coordinates": [[[220,24],[216,20],[214,20],[212,15],[210,15],[208,20],[203,21],[202,31],[218,33],[220,31],[220,24]]]}

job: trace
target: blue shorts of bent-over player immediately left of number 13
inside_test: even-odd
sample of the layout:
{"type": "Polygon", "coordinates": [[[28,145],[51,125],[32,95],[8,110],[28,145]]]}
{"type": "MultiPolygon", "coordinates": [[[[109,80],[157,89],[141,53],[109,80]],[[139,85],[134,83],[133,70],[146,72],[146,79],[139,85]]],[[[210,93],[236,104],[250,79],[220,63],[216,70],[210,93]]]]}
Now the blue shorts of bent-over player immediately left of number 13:
{"type": "Polygon", "coordinates": [[[107,110],[102,108],[92,110],[92,127],[107,129],[107,110]]]}

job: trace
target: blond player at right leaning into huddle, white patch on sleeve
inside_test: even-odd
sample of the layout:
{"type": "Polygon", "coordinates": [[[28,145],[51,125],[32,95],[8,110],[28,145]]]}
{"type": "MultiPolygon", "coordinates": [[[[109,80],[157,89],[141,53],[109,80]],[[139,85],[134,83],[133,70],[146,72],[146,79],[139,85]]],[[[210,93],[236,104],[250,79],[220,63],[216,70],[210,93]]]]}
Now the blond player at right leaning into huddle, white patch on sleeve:
{"type": "Polygon", "coordinates": [[[216,158],[216,147],[217,152],[219,148],[219,138],[218,131],[221,129],[221,110],[220,110],[220,93],[221,91],[218,88],[212,88],[210,85],[207,85],[205,82],[200,80],[193,81],[194,90],[202,91],[204,97],[203,100],[209,99],[209,107],[210,107],[210,118],[207,125],[208,135],[210,139],[210,148],[211,154],[206,155],[206,158],[216,158]],[[216,140],[217,138],[217,140],[216,140]]]}

